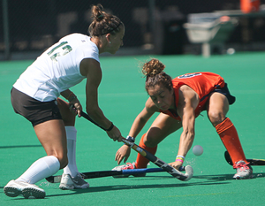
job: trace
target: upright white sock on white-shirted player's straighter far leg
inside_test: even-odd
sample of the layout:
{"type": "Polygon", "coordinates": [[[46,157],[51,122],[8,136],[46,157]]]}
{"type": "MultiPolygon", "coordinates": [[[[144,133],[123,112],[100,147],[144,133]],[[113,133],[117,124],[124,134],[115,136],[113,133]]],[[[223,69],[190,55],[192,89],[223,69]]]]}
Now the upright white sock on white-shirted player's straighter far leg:
{"type": "Polygon", "coordinates": [[[74,126],[65,126],[65,131],[67,138],[68,164],[64,167],[64,174],[70,174],[72,177],[75,177],[79,173],[75,156],[77,130],[74,126]]]}

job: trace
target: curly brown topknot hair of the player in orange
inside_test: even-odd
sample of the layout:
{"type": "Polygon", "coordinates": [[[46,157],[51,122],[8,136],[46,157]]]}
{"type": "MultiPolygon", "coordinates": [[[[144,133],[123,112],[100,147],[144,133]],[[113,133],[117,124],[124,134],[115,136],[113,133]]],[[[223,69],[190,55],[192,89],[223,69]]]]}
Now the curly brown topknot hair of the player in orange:
{"type": "Polygon", "coordinates": [[[146,76],[146,90],[154,88],[155,85],[162,84],[169,90],[172,89],[172,79],[170,75],[163,72],[165,65],[156,58],[152,58],[142,67],[142,73],[146,76]]]}

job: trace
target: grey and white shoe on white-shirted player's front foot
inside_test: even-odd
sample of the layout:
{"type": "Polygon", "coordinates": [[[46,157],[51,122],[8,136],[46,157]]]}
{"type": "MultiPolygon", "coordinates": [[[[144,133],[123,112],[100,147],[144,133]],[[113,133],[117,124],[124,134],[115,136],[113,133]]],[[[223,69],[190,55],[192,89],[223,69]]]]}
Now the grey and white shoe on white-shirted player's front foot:
{"type": "Polygon", "coordinates": [[[61,179],[60,189],[86,189],[89,184],[84,180],[81,173],[78,173],[74,178],[70,174],[63,174],[61,179]]]}

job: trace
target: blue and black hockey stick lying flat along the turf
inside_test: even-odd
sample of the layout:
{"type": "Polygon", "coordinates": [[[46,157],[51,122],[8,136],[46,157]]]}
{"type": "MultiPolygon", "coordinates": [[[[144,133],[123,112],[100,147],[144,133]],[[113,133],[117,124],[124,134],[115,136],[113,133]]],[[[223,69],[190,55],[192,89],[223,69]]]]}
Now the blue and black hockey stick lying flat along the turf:
{"type": "MultiPolygon", "coordinates": [[[[179,168],[179,171],[185,171],[185,167],[182,166],[179,168]]],[[[117,175],[132,175],[132,174],[139,174],[139,173],[148,173],[148,172],[164,172],[161,168],[142,168],[142,169],[133,169],[133,170],[121,170],[121,171],[99,171],[99,172],[83,172],[82,177],[83,179],[94,179],[94,178],[104,178],[110,176],[117,176],[117,175]]],[[[57,176],[49,176],[46,178],[47,181],[50,183],[59,183],[61,182],[62,175],[57,176]]]]}

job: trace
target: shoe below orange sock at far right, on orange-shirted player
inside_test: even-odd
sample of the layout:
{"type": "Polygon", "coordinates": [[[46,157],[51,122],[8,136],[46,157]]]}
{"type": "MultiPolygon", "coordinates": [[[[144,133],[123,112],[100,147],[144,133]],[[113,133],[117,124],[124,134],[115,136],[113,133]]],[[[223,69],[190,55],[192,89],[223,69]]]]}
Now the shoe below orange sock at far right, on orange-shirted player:
{"type": "Polygon", "coordinates": [[[237,173],[233,179],[250,179],[252,178],[253,169],[250,165],[246,164],[245,161],[240,160],[233,165],[234,169],[237,169],[237,173]]]}

